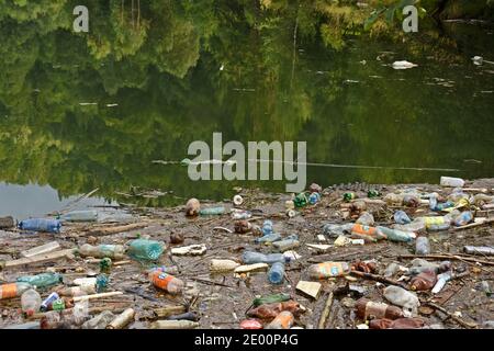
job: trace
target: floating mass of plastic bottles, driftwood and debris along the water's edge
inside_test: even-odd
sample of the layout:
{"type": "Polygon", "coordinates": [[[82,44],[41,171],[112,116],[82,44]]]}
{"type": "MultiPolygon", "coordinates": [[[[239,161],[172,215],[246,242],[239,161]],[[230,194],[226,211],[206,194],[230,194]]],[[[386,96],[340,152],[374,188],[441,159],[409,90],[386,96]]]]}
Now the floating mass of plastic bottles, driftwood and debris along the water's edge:
{"type": "Polygon", "coordinates": [[[3,217],[0,328],[492,328],[493,185],[3,217]]]}

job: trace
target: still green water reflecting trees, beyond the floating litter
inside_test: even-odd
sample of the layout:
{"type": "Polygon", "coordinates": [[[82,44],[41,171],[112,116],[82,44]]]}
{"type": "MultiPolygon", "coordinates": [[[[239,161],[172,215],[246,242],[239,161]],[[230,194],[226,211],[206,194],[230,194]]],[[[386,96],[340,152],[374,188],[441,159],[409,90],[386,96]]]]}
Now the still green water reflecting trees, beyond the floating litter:
{"type": "Polygon", "coordinates": [[[1,49],[0,215],[56,211],[96,188],[91,204],[182,202],[122,195],[133,186],[215,200],[236,185],[284,190],[192,182],[186,167],[153,163],[190,157],[189,144],[211,145],[213,132],[224,143],[305,140],[308,162],[356,166],[308,167],[307,185],[494,176],[494,64],[471,60],[494,61],[485,26],[445,24],[436,43],[412,47],[349,37],[340,52],[317,38],[294,43],[290,27],[269,36],[238,27],[207,47],[184,37],[166,55],[119,59],[99,58],[83,35],[21,37],[16,25],[1,49]],[[403,59],[418,67],[390,67],[403,59]]]}

